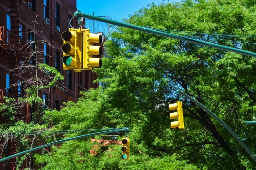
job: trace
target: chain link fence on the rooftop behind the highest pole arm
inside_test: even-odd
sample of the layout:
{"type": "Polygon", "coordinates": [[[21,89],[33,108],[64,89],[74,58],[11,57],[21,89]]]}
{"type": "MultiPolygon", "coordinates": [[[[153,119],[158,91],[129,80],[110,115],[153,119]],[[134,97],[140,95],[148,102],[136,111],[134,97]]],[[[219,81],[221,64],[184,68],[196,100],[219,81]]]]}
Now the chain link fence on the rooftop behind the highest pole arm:
{"type": "MultiPolygon", "coordinates": [[[[109,19],[109,16],[98,16],[98,17],[109,19]]],[[[105,36],[109,35],[108,23],[86,19],[84,26],[85,28],[89,28],[91,33],[103,32],[105,36]]]]}

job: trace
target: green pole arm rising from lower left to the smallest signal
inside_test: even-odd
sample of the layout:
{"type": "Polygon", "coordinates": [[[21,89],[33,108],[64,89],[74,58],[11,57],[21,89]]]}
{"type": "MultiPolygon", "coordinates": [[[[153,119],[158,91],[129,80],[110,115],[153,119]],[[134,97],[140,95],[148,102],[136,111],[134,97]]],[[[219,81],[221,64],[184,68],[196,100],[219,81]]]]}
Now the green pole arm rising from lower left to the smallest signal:
{"type": "Polygon", "coordinates": [[[70,140],[75,140],[75,139],[81,139],[81,138],[84,138],[84,137],[90,137],[90,136],[101,135],[101,134],[110,134],[110,133],[122,132],[122,131],[129,132],[130,130],[129,130],[128,127],[126,127],[126,128],[117,129],[117,130],[96,132],[96,133],[93,133],[93,134],[87,134],[87,135],[71,137],[71,138],[68,138],[68,139],[62,139],[62,140],[58,140],[58,141],[55,141],[55,142],[52,142],[52,143],[48,143],[48,144],[45,144],[45,145],[42,145],[42,146],[39,146],[39,147],[36,147],[36,148],[33,148],[33,149],[28,149],[28,150],[25,150],[25,151],[20,152],[20,153],[16,153],[16,154],[8,156],[6,158],[0,159],[0,162],[6,161],[6,160],[11,159],[13,157],[23,155],[23,154],[28,153],[28,152],[32,152],[32,151],[37,150],[37,149],[42,149],[42,148],[45,148],[45,147],[48,147],[48,146],[52,146],[52,145],[55,145],[55,144],[58,144],[58,143],[62,143],[62,142],[70,141],[70,140]]]}

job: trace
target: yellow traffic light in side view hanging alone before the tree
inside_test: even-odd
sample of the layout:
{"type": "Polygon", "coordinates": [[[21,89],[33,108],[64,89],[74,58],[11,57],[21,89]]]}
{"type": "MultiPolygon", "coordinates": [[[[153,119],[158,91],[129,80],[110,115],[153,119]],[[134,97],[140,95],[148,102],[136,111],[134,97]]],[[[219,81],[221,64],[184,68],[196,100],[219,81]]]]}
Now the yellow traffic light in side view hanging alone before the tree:
{"type": "Polygon", "coordinates": [[[171,128],[184,129],[182,102],[177,102],[169,105],[170,110],[177,110],[177,112],[170,113],[170,119],[178,119],[178,121],[171,122],[171,128]]]}

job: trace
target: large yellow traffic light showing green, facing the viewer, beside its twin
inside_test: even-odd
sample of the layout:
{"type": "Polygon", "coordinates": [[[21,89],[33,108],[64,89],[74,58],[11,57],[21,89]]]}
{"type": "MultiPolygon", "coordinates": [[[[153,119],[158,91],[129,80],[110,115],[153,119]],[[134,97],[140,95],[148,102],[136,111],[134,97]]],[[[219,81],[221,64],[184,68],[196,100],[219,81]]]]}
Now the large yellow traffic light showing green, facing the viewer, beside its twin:
{"type": "Polygon", "coordinates": [[[82,58],[82,33],[81,29],[69,28],[61,35],[64,40],[61,50],[63,52],[63,70],[74,70],[80,72],[82,58]]]}

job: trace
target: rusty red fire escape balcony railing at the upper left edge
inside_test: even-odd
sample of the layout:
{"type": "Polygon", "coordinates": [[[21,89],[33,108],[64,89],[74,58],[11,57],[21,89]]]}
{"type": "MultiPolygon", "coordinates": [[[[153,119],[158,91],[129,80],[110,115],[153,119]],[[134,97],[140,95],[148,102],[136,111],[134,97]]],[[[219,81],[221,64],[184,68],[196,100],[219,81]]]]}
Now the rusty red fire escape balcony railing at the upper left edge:
{"type": "Polygon", "coordinates": [[[0,26],[0,48],[2,49],[15,49],[27,55],[30,48],[26,41],[15,35],[4,26],[0,26]]]}

